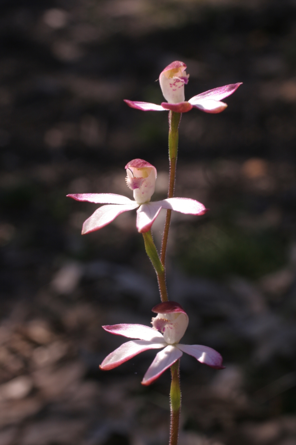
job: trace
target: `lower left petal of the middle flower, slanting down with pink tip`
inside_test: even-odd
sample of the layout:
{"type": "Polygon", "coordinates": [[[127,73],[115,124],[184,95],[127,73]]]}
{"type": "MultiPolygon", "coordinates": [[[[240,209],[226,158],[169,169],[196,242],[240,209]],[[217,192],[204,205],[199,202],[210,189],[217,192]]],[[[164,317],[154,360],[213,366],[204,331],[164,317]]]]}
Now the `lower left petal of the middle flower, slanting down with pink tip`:
{"type": "Polygon", "coordinates": [[[102,227],[110,224],[118,215],[138,207],[137,202],[131,201],[131,204],[110,204],[99,207],[95,212],[83,223],[82,235],[102,229],[102,227]]]}

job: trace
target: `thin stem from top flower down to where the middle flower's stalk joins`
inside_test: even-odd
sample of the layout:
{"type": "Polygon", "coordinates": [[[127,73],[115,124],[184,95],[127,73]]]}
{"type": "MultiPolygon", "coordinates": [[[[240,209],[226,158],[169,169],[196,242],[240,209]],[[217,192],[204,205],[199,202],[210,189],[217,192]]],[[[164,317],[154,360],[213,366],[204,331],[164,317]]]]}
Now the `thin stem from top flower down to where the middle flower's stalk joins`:
{"type": "MultiPolygon", "coordinates": [[[[173,198],[175,189],[175,178],[176,178],[176,164],[178,155],[178,140],[179,133],[178,128],[181,121],[182,113],[176,113],[175,111],[170,111],[169,113],[169,159],[170,159],[170,182],[168,198],[173,198]]],[[[166,247],[170,230],[170,217],[172,210],[166,210],[166,223],[162,235],[162,251],[161,251],[161,262],[162,266],[165,267],[166,264],[166,247]]]]}

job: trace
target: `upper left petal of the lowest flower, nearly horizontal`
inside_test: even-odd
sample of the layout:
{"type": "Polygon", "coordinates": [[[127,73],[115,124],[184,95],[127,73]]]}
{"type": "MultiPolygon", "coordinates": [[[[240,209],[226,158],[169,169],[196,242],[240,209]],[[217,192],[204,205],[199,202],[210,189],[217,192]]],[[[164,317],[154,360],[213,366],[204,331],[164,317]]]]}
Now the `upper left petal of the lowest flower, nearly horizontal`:
{"type": "Polygon", "coordinates": [[[163,335],[155,329],[144,324],[112,324],[102,326],[105,331],[115,335],[122,335],[128,338],[138,338],[139,340],[154,341],[156,343],[164,342],[163,335]]]}

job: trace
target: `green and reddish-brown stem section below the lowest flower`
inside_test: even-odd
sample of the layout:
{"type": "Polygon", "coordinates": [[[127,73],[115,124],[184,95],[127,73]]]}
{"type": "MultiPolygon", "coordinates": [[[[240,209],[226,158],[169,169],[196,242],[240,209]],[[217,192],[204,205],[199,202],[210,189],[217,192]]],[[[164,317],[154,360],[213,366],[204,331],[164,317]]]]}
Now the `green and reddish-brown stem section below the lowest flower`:
{"type": "Polygon", "coordinates": [[[179,377],[180,360],[170,367],[172,383],[170,385],[170,445],[178,444],[179,420],[181,411],[181,390],[179,377]]]}

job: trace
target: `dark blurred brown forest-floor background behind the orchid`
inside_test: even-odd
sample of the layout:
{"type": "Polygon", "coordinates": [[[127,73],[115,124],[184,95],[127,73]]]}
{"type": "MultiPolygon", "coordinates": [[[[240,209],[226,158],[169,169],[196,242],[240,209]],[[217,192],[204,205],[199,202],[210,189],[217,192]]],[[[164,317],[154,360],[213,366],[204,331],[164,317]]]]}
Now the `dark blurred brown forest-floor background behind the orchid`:
{"type": "MultiPolygon", "coordinates": [[[[110,372],[123,338],[159,301],[135,212],[81,236],[96,206],[67,193],[131,196],[124,166],[168,184],[158,79],[184,61],[185,97],[242,81],[211,115],[182,116],[170,299],[189,313],[180,445],[296,444],[296,1],[0,1],[0,444],[164,445],[170,374],[140,381],[154,352],[110,372]]],[[[153,227],[160,245],[164,223],[153,227]]]]}

